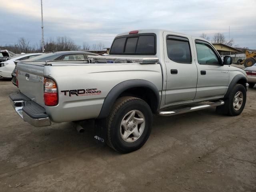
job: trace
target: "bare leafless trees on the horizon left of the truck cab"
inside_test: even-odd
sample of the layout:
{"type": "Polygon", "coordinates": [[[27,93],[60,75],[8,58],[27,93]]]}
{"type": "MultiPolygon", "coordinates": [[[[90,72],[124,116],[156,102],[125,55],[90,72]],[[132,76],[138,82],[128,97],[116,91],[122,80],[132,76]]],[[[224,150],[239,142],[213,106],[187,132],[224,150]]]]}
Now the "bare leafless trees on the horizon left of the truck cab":
{"type": "MultiPolygon", "coordinates": [[[[70,37],[63,36],[49,38],[44,42],[44,52],[52,52],[52,51],[78,51],[78,50],[103,50],[104,44],[99,42],[98,44],[89,45],[86,42],[83,42],[82,46],[75,44],[74,40],[70,37]]],[[[41,42],[31,44],[28,39],[19,38],[15,44],[9,45],[0,45],[0,49],[7,49],[16,54],[20,53],[35,53],[42,52],[41,42]]]]}

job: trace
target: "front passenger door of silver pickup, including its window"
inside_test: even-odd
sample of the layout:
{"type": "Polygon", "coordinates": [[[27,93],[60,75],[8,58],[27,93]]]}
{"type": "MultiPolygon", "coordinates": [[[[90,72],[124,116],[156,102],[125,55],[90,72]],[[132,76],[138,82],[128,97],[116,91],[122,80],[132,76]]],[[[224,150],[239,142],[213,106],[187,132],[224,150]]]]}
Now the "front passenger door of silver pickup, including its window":
{"type": "Polygon", "coordinates": [[[221,98],[228,89],[228,66],[222,60],[213,46],[202,40],[193,40],[195,47],[198,82],[194,100],[221,98]]]}

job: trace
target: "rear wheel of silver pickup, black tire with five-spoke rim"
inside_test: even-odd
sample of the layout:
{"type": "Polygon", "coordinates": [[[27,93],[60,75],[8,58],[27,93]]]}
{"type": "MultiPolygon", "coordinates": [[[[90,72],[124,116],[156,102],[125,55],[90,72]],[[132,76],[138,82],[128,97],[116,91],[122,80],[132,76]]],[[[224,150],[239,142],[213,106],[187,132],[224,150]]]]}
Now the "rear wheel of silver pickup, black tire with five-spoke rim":
{"type": "Polygon", "coordinates": [[[151,109],[144,100],[130,96],[118,98],[106,122],[108,146],[121,153],[138,150],[148,140],[152,121],[151,109]]]}

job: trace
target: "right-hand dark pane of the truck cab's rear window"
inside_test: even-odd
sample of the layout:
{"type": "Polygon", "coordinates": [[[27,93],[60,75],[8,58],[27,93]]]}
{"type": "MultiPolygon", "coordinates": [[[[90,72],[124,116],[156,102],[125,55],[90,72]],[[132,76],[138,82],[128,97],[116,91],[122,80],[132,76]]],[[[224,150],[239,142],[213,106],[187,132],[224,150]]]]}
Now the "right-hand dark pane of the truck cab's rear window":
{"type": "Polygon", "coordinates": [[[136,53],[155,53],[155,38],[152,35],[140,36],[136,53]]]}

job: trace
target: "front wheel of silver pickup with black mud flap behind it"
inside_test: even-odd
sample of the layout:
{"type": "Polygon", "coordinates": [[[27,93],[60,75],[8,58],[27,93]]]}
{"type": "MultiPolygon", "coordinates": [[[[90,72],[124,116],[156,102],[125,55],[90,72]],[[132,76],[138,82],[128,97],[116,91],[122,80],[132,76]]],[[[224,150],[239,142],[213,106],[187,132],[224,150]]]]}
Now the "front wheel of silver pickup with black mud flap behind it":
{"type": "Polygon", "coordinates": [[[244,88],[244,86],[241,84],[236,84],[231,90],[228,98],[225,99],[224,102],[224,105],[216,107],[216,112],[218,114],[224,114],[229,116],[240,115],[244,110],[244,106],[246,103],[246,89],[244,88]],[[236,106],[234,106],[235,102],[237,104],[236,106]]]}

